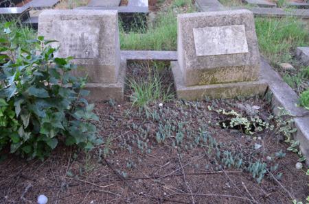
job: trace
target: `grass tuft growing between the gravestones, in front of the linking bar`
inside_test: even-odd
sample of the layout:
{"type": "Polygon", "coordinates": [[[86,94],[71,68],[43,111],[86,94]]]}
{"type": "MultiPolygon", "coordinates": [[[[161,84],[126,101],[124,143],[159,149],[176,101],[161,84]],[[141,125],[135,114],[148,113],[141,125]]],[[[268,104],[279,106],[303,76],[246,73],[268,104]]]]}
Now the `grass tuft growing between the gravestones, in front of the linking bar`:
{"type": "Polygon", "coordinates": [[[148,79],[130,80],[129,84],[133,90],[133,93],[130,95],[133,105],[147,107],[148,104],[156,101],[163,103],[174,99],[174,95],[170,92],[170,87],[166,91],[163,90],[161,78],[157,73],[150,74],[148,79]]]}

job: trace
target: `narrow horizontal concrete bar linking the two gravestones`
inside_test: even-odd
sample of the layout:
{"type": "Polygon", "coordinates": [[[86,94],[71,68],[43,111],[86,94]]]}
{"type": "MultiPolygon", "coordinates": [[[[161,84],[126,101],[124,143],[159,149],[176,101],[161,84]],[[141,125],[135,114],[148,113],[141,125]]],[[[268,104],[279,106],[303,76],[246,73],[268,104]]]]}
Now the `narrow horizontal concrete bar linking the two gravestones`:
{"type": "Polygon", "coordinates": [[[177,60],[176,51],[121,51],[121,55],[126,60],[177,60]]]}

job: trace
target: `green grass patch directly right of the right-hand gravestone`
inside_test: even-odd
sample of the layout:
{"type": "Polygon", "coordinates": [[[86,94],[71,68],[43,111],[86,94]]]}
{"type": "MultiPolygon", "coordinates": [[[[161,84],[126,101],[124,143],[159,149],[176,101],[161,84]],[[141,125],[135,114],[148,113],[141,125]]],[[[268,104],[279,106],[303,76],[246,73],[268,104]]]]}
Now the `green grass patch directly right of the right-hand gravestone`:
{"type": "Polygon", "coordinates": [[[291,62],[296,47],[309,44],[306,24],[296,18],[255,18],[255,28],[262,54],[277,66],[291,62]]]}

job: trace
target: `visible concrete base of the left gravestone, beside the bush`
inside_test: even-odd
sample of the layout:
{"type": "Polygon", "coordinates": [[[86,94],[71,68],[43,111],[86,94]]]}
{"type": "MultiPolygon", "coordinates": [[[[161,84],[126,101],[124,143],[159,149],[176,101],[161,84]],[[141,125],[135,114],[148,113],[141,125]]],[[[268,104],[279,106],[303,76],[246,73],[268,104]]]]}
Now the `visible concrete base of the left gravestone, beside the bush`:
{"type": "Polygon", "coordinates": [[[90,90],[90,95],[87,97],[89,101],[99,102],[114,99],[115,101],[124,100],[124,86],[126,81],[126,60],[122,59],[119,68],[119,77],[116,83],[100,84],[89,83],[86,89],[90,90]]]}

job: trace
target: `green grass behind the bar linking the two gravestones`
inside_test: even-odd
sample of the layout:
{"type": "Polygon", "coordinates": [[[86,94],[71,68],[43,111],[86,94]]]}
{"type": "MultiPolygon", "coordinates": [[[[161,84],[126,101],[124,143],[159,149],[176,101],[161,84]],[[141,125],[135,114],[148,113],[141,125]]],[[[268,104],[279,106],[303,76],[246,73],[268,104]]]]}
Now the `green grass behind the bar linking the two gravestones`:
{"type": "MultiPolygon", "coordinates": [[[[159,12],[155,21],[148,23],[148,27],[138,27],[129,32],[120,26],[120,44],[123,50],[168,50],[177,49],[177,19],[176,14],[193,12],[194,7],[191,0],[175,0],[171,7],[165,12],[159,12]],[[173,7],[176,6],[177,8],[173,7]]],[[[135,22],[136,25],[141,25],[135,22]]]]}

